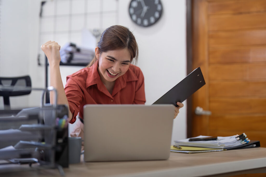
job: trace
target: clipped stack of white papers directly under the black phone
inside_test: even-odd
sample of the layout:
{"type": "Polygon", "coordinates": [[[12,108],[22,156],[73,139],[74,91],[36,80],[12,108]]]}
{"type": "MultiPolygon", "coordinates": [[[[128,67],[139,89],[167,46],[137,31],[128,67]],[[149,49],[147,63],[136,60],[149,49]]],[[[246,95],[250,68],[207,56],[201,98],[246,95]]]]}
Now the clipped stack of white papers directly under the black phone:
{"type": "MultiPolygon", "coordinates": [[[[209,137],[209,136],[200,135],[200,136],[197,136],[194,138],[202,138],[202,137],[209,137]]],[[[188,138],[188,139],[178,140],[178,141],[174,141],[174,142],[178,146],[193,146],[193,147],[217,148],[217,149],[230,148],[231,149],[233,147],[237,147],[237,146],[241,146],[243,144],[246,144],[245,142],[243,142],[243,140],[238,139],[237,137],[238,137],[238,135],[226,136],[226,137],[218,136],[217,140],[211,140],[211,141],[189,141],[189,138],[188,138]]]]}

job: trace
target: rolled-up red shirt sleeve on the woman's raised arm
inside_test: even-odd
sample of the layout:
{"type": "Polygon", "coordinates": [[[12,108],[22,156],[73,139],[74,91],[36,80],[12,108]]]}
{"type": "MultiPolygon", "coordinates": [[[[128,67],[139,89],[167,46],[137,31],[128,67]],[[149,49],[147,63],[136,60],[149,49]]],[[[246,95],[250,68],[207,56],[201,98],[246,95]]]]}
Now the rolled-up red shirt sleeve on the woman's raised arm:
{"type": "Polygon", "coordinates": [[[80,85],[73,78],[71,78],[71,76],[66,77],[65,93],[68,100],[69,109],[73,115],[69,123],[73,124],[76,121],[76,116],[79,112],[79,105],[81,104],[84,94],[80,88],[80,85]]]}

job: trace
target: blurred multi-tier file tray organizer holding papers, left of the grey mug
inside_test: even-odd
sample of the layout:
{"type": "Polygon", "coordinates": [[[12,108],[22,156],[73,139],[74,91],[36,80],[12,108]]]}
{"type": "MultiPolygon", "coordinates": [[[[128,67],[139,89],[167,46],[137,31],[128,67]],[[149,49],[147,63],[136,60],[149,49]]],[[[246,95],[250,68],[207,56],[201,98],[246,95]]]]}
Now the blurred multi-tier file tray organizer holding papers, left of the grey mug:
{"type": "MultiPolygon", "coordinates": [[[[9,162],[0,163],[0,176],[1,171],[8,169],[5,168],[6,166],[14,166],[14,163],[29,164],[28,170],[58,168],[61,175],[64,175],[62,167],[68,167],[68,109],[66,105],[56,104],[56,90],[52,87],[32,90],[43,90],[41,106],[22,110],[0,110],[0,129],[2,129],[0,131],[3,132],[12,128],[14,130],[10,131],[13,131],[13,133],[18,131],[34,132],[32,135],[39,135],[38,140],[36,141],[36,138],[33,138],[35,141],[31,141],[28,136],[14,136],[6,139],[4,142],[2,141],[0,143],[2,147],[0,148],[12,145],[15,149],[5,152],[0,151],[0,161],[5,160],[9,162]],[[54,105],[45,105],[43,103],[45,92],[48,91],[55,92],[54,105]],[[66,126],[58,126],[56,120],[63,119],[66,121],[66,126]],[[25,140],[26,137],[27,140],[25,140]]],[[[12,133],[10,132],[9,135],[12,135],[12,133]]],[[[18,169],[20,167],[18,165],[18,169]]]]}

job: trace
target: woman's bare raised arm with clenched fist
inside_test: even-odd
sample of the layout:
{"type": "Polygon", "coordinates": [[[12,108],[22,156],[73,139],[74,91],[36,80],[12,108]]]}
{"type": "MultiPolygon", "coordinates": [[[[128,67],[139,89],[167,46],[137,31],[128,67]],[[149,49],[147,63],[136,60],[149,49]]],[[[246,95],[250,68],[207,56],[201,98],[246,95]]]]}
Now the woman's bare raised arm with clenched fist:
{"type": "MultiPolygon", "coordinates": [[[[68,121],[72,119],[72,113],[70,112],[68,101],[66,98],[64,85],[61,79],[59,64],[61,61],[60,57],[60,45],[55,41],[48,41],[41,46],[46,57],[49,61],[50,68],[50,86],[57,90],[57,103],[64,104],[68,107],[68,121]]],[[[54,93],[50,92],[50,102],[53,104],[54,93]]]]}

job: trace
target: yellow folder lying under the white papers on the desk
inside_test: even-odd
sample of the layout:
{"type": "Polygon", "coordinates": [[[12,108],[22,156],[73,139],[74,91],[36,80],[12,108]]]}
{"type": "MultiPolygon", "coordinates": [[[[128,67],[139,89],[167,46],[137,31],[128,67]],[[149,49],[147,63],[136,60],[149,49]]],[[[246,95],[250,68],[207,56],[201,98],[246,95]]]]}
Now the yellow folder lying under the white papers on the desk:
{"type": "Polygon", "coordinates": [[[215,149],[215,148],[200,148],[200,147],[192,147],[192,146],[180,146],[182,149],[175,148],[171,146],[170,152],[179,152],[179,153],[201,153],[201,152],[215,152],[215,151],[223,151],[226,149],[215,149]]]}

